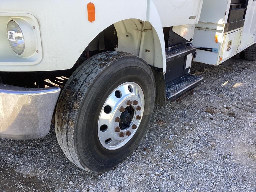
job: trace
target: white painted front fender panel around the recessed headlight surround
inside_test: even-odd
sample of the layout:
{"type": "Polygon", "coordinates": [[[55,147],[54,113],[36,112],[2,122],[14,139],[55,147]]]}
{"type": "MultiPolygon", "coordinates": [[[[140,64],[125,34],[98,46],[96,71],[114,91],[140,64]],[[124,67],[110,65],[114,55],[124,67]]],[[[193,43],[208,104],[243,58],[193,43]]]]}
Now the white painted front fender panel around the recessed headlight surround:
{"type": "MultiPolygon", "coordinates": [[[[71,68],[81,53],[106,27],[120,20],[147,17],[147,0],[94,0],[96,20],[88,21],[90,0],[0,0],[0,16],[5,13],[28,13],[36,17],[40,27],[43,58],[37,65],[0,66],[0,71],[46,71],[71,68]]],[[[0,24],[1,40],[6,36],[7,23],[0,24]],[[3,27],[2,27],[3,26],[3,27]]],[[[161,25],[161,23],[160,23],[161,25]]],[[[155,27],[155,26],[154,26],[155,27]]],[[[162,27],[162,26],[161,26],[162,27]]],[[[156,30],[159,29],[156,26],[156,30]]],[[[161,28],[162,29],[162,28],[161,28]]],[[[162,30],[163,31],[163,30],[162,30]]],[[[26,39],[26,37],[25,37],[26,39]]],[[[1,57],[1,52],[0,52],[1,57]]]]}

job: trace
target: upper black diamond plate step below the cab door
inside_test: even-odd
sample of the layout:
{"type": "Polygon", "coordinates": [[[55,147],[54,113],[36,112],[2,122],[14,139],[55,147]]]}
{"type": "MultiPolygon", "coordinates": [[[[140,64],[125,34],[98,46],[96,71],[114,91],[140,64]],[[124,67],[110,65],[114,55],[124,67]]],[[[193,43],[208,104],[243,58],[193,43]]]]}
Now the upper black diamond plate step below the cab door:
{"type": "Polygon", "coordinates": [[[189,55],[193,52],[196,52],[196,47],[194,47],[191,43],[187,43],[180,47],[169,47],[165,49],[165,59],[166,62],[168,62],[189,55]]]}

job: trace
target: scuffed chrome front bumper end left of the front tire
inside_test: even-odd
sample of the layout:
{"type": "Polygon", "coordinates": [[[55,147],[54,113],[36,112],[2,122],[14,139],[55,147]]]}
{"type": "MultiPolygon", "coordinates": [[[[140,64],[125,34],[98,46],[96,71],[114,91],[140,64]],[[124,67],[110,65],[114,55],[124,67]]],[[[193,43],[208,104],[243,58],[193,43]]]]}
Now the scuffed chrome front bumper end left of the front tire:
{"type": "Polygon", "coordinates": [[[59,87],[31,89],[0,83],[0,137],[46,136],[59,94],[59,87]]]}

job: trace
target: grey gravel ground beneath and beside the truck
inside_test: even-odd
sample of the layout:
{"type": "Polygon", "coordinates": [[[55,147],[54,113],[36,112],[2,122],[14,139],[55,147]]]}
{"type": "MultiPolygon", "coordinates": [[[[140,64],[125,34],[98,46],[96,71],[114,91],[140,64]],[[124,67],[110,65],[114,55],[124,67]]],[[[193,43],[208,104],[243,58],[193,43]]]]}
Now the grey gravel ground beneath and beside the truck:
{"type": "Polygon", "coordinates": [[[108,173],[74,166],[54,125],[41,139],[0,139],[0,192],[255,191],[256,62],[192,69],[205,83],[182,103],[156,104],[140,146],[108,173]]]}

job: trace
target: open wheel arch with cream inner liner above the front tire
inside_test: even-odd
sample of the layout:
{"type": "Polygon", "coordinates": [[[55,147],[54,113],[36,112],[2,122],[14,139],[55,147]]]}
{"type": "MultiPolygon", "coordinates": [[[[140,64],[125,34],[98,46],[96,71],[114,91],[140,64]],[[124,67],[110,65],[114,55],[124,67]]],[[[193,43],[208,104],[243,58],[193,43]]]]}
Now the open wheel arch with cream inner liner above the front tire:
{"type": "Polygon", "coordinates": [[[125,19],[112,24],[90,42],[81,57],[113,50],[131,53],[153,67],[163,68],[161,43],[148,21],[125,19]]]}

